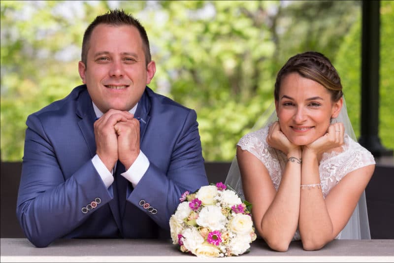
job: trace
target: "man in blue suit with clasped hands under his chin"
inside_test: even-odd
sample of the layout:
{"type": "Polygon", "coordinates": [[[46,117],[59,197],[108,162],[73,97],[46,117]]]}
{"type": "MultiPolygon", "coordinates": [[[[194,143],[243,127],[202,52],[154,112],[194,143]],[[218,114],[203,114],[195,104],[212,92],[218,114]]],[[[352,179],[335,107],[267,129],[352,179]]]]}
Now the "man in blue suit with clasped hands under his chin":
{"type": "Polygon", "coordinates": [[[169,238],[185,191],[207,185],[197,115],[146,85],[144,28],[120,10],[87,28],[84,85],[27,119],[17,217],[37,247],[57,238],[169,238]]]}

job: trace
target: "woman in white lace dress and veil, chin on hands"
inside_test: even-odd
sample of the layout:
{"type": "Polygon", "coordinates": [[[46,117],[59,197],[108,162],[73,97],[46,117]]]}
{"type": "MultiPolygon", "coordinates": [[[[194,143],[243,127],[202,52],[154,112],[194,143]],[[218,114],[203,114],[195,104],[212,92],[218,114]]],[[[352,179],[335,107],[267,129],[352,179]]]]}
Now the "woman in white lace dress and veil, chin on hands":
{"type": "Polygon", "coordinates": [[[260,236],[276,251],[370,238],[364,189],[375,161],[355,141],[335,68],[321,53],[297,54],[274,99],[266,124],[239,140],[226,180],[252,203],[260,236]]]}

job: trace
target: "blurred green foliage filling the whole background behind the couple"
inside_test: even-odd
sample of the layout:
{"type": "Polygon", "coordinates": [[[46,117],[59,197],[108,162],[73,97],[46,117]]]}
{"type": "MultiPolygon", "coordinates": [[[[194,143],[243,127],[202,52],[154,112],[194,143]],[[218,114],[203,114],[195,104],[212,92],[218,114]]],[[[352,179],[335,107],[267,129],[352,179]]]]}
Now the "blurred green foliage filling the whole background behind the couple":
{"type": "MultiPolygon", "coordinates": [[[[392,1],[381,3],[379,136],[394,148],[392,1]]],[[[206,161],[230,161],[235,144],[273,101],[290,56],[325,54],[360,127],[360,1],[4,1],[1,5],[1,160],[20,161],[29,114],[82,82],[83,33],[109,8],[145,27],[157,73],[150,87],[197,111],[206,161]]]]}

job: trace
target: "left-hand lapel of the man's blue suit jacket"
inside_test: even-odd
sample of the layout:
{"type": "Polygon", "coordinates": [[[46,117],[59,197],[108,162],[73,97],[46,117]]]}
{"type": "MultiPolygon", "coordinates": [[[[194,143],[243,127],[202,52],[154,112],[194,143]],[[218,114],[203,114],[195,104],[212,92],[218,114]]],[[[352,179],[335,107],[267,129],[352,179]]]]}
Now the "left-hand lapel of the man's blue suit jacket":
{"type": "MultiPolygon", "coordinates": [[[[81,118],[78,122],[79,128],[85,138],[86,145],[89,149],[90,155],[93,158],[96,155],[96,139],[94,131],[94,123],[96,121],[95,110],[93,109],[92,99],[89,96],[88,91],[81,94],[78,99],[76,114],[81,118]]],[[[119,213],[118,206],[118,189],[116,184],[112,184],[114,198],[108,202],[111,208],[112,215],[118,228],[122,229],[122,222],[119,213]]]]}

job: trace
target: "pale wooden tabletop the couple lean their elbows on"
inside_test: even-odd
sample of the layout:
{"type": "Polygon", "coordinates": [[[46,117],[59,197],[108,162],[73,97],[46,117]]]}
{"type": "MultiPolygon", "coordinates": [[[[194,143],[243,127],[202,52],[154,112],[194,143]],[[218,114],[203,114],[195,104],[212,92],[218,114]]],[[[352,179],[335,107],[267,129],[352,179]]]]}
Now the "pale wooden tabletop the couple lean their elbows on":
{"type": "Polygon", "coordinates": [[[262,239],[251,251],[228,258],[201,258],[180,252],[171,240],[59,239],[36,248],[26,238],[1,238],[1,262],[394,262],[394,239],[333,240],[318,251],[293,241],[287,252],[262,239]]]}

